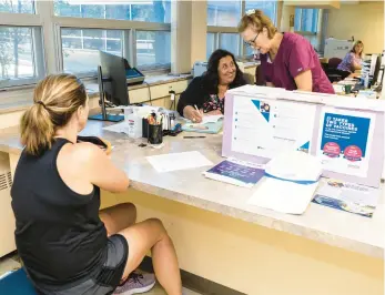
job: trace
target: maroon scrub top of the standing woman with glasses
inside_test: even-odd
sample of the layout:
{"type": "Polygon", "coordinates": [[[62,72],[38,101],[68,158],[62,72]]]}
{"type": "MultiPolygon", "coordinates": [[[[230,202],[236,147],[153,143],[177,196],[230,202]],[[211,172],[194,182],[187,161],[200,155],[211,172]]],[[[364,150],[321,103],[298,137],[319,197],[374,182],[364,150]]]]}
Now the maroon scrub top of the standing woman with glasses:
{"type": "Polygon", "coordinates": [[[313,92],[334,94],[333,85],[321,67],[317,53],[301,34],[284,33],[274,61],[270,61],[269,54],[261,54],[261,65],[265,81],[272,82],[276,88],[296,90],[294,78],[311,70],[313,92]]]}

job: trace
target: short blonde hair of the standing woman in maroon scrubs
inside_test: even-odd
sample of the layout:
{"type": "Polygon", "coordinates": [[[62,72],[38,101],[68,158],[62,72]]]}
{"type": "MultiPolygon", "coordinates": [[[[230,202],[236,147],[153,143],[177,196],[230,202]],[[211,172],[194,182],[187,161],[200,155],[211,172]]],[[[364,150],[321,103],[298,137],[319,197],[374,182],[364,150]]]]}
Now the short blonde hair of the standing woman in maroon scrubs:
{"type": "Polygon", "coordinates": [[[270,39],[272,39],[277,32],[277,29],[275,28],[272,20],[266,17],[262,10],[259,9],[255,9],[251,11],[251,13],[246,13],[242,17],[237,26],[237,31],[242,33],[249,27],[253,28],[256,32],[261,32],[263,28],[266,28],[270,39]]]}

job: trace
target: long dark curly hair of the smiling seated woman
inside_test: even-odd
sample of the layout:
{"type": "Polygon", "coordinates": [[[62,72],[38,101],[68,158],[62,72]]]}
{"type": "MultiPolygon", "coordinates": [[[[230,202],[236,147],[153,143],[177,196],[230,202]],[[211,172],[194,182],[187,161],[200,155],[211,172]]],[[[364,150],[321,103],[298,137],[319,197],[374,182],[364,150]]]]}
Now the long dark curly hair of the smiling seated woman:
{"type": "Polygon", "coordinates": [[[225,57],[231,57],[233,59],[234,65],[236,68],[235,79],[229,85],[229,89],[237,88],[237,87],[242,87],[242,85],[246,84],[246,81],[243,78],[243,73],[240,70],[240,67],[237,67],[237,64],[236,64],[234,54],[227,50],[217,49],[211,54],[211,57],[209,59],[207,71],[203,74],[204,83],[212,91],[212,93],[217,94],[217,85],[220,83],[220,75],[217,73],[217,67],[220,64],[220,60],[225,58],[225,57]]]}

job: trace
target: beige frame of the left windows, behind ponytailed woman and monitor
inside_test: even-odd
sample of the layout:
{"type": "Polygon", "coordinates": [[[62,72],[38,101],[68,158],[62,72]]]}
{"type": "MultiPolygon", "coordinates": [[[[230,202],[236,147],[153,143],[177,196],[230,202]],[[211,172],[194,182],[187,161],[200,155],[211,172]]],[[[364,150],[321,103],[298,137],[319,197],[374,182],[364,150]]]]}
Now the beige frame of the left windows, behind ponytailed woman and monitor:
{"type": "MultiPolygon", "coordinates": [[[[63,72],[63,52],[61,29],[100,29],[123,31],[123,58],[131,67],[136,67],[135,30],[168,31],[171,33],[171,23],[144,22],[114,19],[93,19],[79,17],[60,17],[54,14],[54,0],[33,1],[34,13],[0,12],[3,27],[32,27],[34,71],[38,75],[33,79],[9,80],[1,83],[0,89],[32,85],[43,79],[45,74],[63,72]],[[131,49],[131,50],[130,50],[131,49]]],[[[140,67],[143,72],[170,71],[169,64],[154,64],[140,67]]],[[[79,78],[94,79],[94,71],[75,73],[79,78]]]]}

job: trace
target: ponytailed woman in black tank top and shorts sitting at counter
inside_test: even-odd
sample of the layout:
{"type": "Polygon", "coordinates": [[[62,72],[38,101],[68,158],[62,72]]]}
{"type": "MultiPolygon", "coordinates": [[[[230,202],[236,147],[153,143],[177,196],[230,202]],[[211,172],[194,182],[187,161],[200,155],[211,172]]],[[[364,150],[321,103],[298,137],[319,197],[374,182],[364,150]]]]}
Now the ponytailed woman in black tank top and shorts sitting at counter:
{"type": "Polygon", "coordinates": [[[77,143],[89,114],[84,85],[73,75],[50,75],[33,102],[21,119],[26,148],[11,196],[18,252],[39,294],[149,291],[154,279],[130,274],[151,250],[159,282],[181,295],[175,250],[162,223],[134,224],[132,204],[99,212],[100,190],[124,192],[129,179],[100,148],[77,143]]]}

